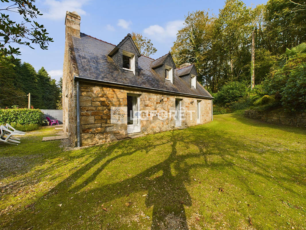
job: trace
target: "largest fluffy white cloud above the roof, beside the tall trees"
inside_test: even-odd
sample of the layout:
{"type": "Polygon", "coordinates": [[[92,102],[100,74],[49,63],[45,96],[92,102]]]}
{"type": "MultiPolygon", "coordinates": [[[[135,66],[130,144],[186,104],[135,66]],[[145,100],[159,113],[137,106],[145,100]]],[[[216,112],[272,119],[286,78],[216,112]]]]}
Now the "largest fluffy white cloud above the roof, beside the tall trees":
{"type": "Polygon", "coordinates": [[[167,22],[165,27],[160,25],[150,25],[148,28],[144,29],[144,34],[154,37],[157,40],[175,38],[177,31],[183,28],[183,23],[184,21],[182,20],[176,20],[167,22]]]}

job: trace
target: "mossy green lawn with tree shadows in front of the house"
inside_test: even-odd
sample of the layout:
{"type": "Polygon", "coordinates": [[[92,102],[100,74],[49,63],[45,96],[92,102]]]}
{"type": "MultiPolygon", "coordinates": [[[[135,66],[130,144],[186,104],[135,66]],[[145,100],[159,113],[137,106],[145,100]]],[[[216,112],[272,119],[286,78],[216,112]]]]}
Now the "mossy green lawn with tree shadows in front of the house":
{"type": "Polygon", "coordinates": [[[306,229],[305,129],[225,114],[73,151],[54,133],[0,144],[0,229],[306,229]]]}

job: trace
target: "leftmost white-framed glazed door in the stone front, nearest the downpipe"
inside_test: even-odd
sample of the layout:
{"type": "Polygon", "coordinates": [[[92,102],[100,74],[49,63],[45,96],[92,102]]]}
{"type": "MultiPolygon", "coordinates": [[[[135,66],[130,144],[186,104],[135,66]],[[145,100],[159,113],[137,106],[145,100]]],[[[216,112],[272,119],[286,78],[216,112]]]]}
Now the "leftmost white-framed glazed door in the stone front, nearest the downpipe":
{"type": "Polygon", "coordinates": [[[136,94],[127,95],[128,133],[140,132],[140,97],[136,94]]]}

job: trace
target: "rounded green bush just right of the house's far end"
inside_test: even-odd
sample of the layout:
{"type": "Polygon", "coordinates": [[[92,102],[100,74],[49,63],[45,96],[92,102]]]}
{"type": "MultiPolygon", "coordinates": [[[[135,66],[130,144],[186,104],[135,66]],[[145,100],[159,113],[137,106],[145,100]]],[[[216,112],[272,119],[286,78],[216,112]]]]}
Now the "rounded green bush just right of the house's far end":
{"type": "Polygon", "coordinates": [[[222,86],[221,90],[214,94],[214,102],[219,105],[233,103],[243,98],[248,92],[248,88],[243,82],[230,82],[222,86]]]}

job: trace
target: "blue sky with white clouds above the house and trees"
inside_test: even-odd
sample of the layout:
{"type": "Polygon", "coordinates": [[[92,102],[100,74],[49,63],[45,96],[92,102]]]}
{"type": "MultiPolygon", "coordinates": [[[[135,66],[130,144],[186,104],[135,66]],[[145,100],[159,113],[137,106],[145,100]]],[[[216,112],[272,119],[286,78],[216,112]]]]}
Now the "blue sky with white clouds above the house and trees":
{"type": "MultiPolygon", "coordinates": [[[[246,6],[255,7],[267,0],[243,0],[246,6]]],[[[7,3],[6,3],[7,4],[7,3]]],[[[0,3],[0,9],[6,6],[0,3]]],[[[209,11],[218,15],[224,0],[166,0],[166,1],[99,1],[99,0],[36,0],[35,6],[43,13],[36,21],[43,24],[53,38],[48,50],[34,46],[20,47],[22,62],[32,64],[36,71],[44,67],[51,78],[62,77],[65,47],[65,14],[76,11],[81,16],[82,33],[118,44],[128,33],[142,33],[151,39],[157,52],[151,58],[158,58],[171,50],[176,34],[183,27],[185,15],[196,10],[209,11]]],[[[4,12],[2,12],[4,13],[4,12]]],[[[5,12],[20,22],[17,13],[5,12]]]]}

